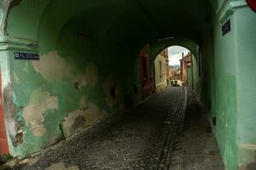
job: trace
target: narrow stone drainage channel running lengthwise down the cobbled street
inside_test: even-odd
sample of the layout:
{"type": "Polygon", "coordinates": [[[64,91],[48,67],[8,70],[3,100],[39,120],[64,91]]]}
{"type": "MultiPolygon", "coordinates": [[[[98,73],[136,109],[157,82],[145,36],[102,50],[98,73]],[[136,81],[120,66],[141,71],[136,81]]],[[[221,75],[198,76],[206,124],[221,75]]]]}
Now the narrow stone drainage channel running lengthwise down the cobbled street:
{"type": "Polygon", "coordinates": [[[177,136],[177,133],[183,131],[187,98],[187,88],[183,88],[174,114],[170,114],[166,118],[165,123],[168,133],[166,135],[164,147],[162,148],[160,162],[157,168],[158,170],[168,170],[172,167],[172,150],[175,148],[174,139],[177,136]]]}

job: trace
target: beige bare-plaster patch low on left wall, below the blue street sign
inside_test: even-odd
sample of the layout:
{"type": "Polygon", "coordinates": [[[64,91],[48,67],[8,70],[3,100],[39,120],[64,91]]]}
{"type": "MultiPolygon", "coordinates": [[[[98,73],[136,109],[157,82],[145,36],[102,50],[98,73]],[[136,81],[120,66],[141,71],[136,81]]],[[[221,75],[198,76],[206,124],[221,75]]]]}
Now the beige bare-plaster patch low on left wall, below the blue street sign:
{"type": "Polygon", "coordinates": [[[24,119],[32,127],[35,136],[42,136],[46,133],[44,127],[44,112],[58,109],[58,98],[51,96],[38,88],[32,92],[29,105],[24,108],[24,119]]]}

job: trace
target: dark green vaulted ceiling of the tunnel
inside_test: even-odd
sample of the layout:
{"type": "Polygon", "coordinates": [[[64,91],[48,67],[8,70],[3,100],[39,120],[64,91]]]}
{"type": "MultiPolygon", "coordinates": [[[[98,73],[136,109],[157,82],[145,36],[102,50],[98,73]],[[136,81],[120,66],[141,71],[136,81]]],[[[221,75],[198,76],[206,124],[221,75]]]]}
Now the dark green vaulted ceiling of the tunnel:
{"type": "MultiPolygon", "coordinates": [[[[22,8],[28,0],[22,0],[22,8]]],[[[38,0],[44,12],[38,17],[40,22],[34,26],[34,34],[41,52],[54,50],[63,27],[68,23],[78,22],[84,26],[85,34],[90,34],[100,42],[103,50],[116,50],[130,46],[137,50],[148,42],[165,37],[186,37],[198,44],[201,43],[205,31],[211,23],[213,13],[211,0],[52,0],[48,3],[38,0]],[[210,21],[209,21],[210,20],[210,21]],[[86,32],[88,31],[88,32],[86,32]]],[[[216,4],[214,4],[216,6],[216,4]]],[[[14,10],[16,10],[14,8],[14,10]]],[[[35,11],[23,11],[10,14],[10,23],[15,24],[19,17],[26,17],[24,29],[15,36],[24,35],[26,27],[35,11]],[[15,15],[16,14],[16,15],[15,15]],[[23,32],[22,32],[23,31],[23,32]]],[[[32,20],[33,21],[33,20],[32,20]]],[[[9,34],[11,31],[9,27],[9,34]]],[[[30,30],[32,32],[32,30],[30,30]]]]}

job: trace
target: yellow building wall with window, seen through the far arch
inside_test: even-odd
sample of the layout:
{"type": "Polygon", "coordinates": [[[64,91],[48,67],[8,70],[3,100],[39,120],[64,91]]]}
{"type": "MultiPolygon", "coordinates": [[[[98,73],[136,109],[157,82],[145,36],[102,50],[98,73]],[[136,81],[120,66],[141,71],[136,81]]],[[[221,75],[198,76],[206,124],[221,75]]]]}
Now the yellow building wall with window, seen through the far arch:
{"type": "Polygon", "coordinates": [[[166,59],[160,54],[154,59],[154,83],[156,93],[159,93],[167,87],[166,59]]]}

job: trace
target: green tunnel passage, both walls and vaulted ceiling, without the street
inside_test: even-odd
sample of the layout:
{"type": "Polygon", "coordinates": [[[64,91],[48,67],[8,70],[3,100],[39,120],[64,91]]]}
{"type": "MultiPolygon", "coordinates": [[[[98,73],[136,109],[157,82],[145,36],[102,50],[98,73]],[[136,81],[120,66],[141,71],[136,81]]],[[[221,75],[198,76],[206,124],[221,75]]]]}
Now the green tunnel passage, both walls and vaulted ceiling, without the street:
{"type": "Polygon", "coordinates": [[[180,45],[226,169],[256,167],[255,23],[244,0],[1,1],[0,152],[24,158],[130,109],[180,45]]]}

